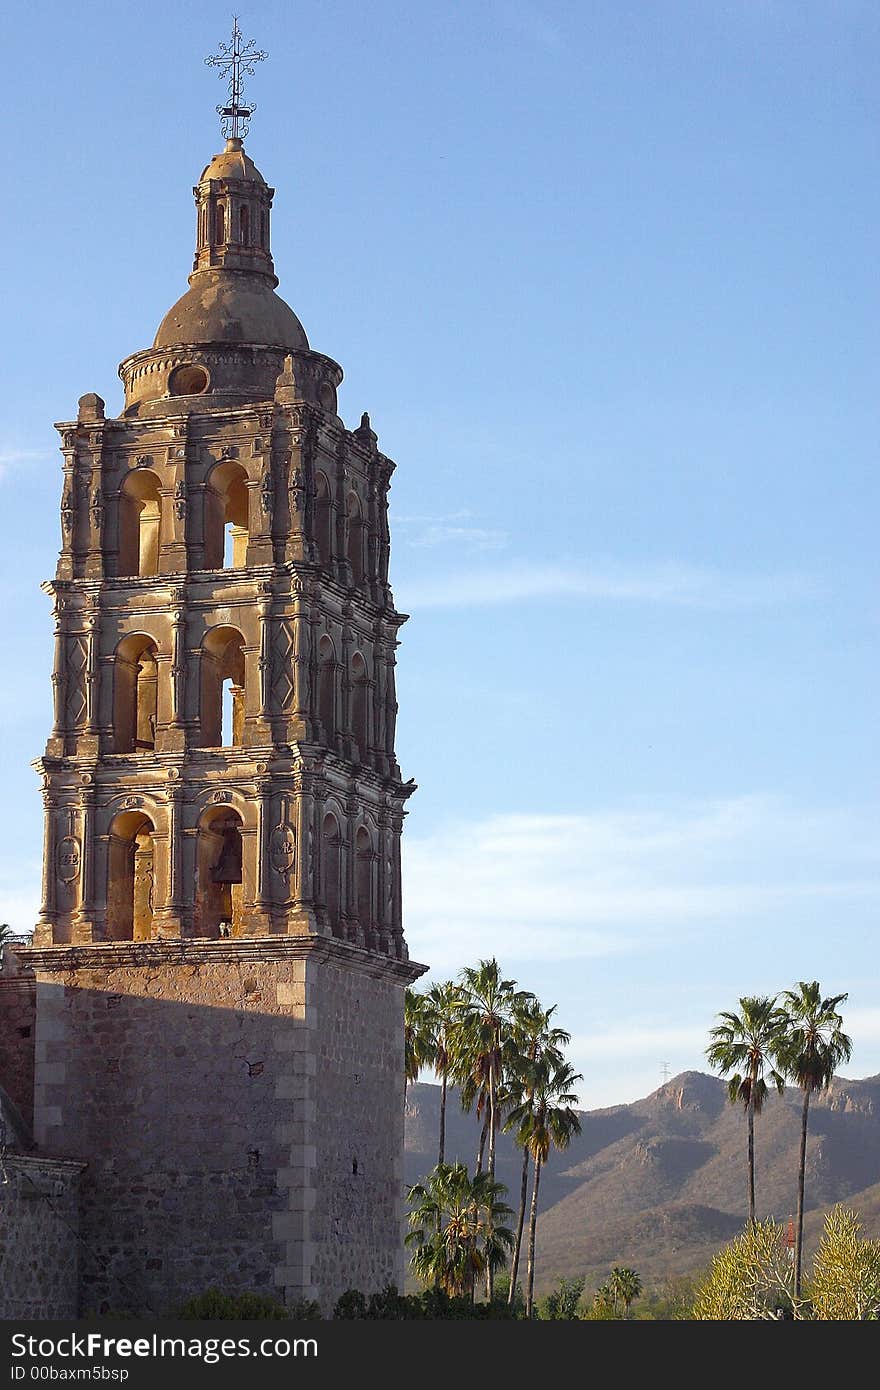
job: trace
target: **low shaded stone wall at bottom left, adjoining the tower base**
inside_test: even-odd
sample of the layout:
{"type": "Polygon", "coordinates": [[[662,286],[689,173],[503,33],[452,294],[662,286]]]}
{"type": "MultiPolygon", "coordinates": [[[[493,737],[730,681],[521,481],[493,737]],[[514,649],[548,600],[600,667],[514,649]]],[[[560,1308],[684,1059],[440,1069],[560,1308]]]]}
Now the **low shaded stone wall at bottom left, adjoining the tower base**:
{"type": "Polygon", "coordinates": [[[10,1154],[0,1187],[0,1319],[75,1318],[81,1163],[10,1154]]]}

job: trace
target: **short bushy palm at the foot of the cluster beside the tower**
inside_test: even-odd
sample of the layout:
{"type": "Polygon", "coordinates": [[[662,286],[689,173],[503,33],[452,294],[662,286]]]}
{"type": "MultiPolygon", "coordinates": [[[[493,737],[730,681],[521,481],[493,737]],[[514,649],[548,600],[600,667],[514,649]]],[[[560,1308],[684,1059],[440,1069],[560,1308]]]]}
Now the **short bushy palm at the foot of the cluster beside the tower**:
{"type": "Polygon", "coordinates": [[[413,1247],[413,1273],[452,1298],[473,1300],[480,1275],[500,1268],[513,1245],[505,1191],[488,1173],[471,1177],[464,1163],[438,1163],[424,1183],[410,1187],[406,1244],[413,1247]]]}

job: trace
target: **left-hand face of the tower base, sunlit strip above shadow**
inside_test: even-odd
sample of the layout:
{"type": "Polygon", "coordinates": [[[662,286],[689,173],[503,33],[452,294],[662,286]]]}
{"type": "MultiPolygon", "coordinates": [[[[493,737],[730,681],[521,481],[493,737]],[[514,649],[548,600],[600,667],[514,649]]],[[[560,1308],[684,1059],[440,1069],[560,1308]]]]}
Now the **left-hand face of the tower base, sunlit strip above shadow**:
{"type": "Polygon", "coordinates": [[[164,1315],[211,1284],[279,1294],[275,1127],[292,1102],[277,1083],[302,973],[249,960],[40,981],[36,1140],[89,1163],[81,1314],[164,1315]]]}

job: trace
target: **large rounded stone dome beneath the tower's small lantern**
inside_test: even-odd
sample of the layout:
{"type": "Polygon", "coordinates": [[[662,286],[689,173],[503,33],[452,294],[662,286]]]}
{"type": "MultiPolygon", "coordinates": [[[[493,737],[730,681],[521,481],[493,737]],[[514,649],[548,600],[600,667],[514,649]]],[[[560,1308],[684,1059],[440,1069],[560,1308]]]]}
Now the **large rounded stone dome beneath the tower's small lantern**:
{"type": "Polygon", "coordinates": [[[309,350],[306,329],[268,281],[234,270],[203,270],[192,277],[186,293],[158,325],[153,346],[175,343],[263,343],[288,352],[309,350]]]}

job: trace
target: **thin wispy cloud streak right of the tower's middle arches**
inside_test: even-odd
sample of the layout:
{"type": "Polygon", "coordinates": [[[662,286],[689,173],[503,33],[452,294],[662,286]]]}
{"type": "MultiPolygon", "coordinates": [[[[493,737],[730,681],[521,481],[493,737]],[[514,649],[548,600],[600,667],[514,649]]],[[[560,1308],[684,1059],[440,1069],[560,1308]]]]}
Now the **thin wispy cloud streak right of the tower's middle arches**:
{"type": "Polygon", "coordinates": [[[683,564],[655,567],[517,563],[460,570],[399,585],[407,610],[482,607],[541,598],[592,602],[665,603],[692,609],[742,609],[787,603],[815,592],[799,574],[727,574],[683,564]]]}

